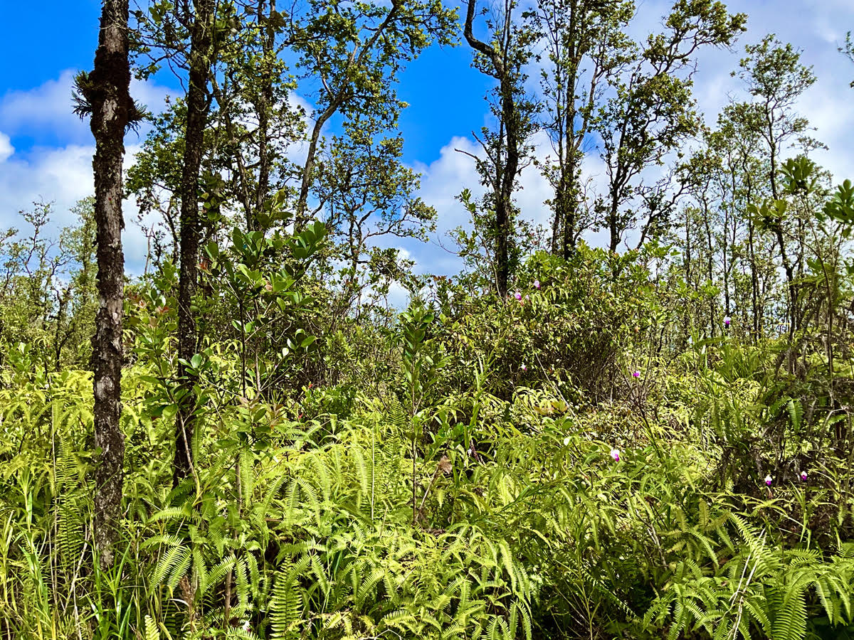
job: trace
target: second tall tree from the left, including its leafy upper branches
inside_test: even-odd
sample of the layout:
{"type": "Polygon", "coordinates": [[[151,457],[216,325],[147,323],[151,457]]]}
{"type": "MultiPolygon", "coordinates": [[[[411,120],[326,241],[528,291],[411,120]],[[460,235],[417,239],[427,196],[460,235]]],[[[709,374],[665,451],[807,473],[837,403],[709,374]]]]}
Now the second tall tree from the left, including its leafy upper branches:
{"type": "Polygon", "coordinates": [[[199,343],[193,299],[198,287],[202,227],[208,218],[199,210],[200,177],[202,160],[211,154],[214,146],[205,135],[214,97],[211,82],[220,49],[239,30],[235,12],[233,3],[219,0],[160,0],[152,3],[147,13],[133,12],[137,20],[133,32],[137,61],[142,56],[149,58],[148,64],[139,65],[138,73],[151,75],[167,64],[186,85],[183,99],[176,101],[156,123],[149,136],[148,142],[153,140],[149,154],[143,154],[137,161],[140,167],[132,172],[132,189],[146,195],[146,206],[156,200],[154,192],[159,190],[159,184],[155,186],[155,182],[171,192],[164,212],[176,245],[173,255],[180,263],[175,484],[192,471],[197,407],[193,369],[188,363],[199,343]]]}

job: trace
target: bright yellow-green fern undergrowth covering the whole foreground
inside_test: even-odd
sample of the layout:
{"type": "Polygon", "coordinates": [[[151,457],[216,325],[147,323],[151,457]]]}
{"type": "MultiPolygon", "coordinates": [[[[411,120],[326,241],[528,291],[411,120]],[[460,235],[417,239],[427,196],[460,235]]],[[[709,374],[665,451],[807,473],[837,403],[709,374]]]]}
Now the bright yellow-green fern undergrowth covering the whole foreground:
{"type": "MultiPolygon", "coordinates": [[[[532,298],[553,286],[540,277],[532,298]]],[[[811,459],[805,483],[775,471],[770,493],[710,466],[739,442],[771,464],[767,438],[749,433],[782,421],[794,439],[815,422],[791,394],[763,404],[767,355],[699,344],[670,364],[675,381],[613,404],[569,402],[553,386],[500,399],[488,391],[498,360],[482,358],[472,387],[442,398],[431,371],[450,356],[432,316],[415,305],[401,317],[406,395],[358,391],[347,413],[330,413],[341,390],[311,388],[301,419],[261,398],[220,405],[205,414],[196,477],[174,489],[171,457],[156,453],[171,419],[146,408],[159,382],[128,370],[126,551],[109,574],[85,571],[90,378],[51,375],[44,387],[9,371],[4,631],[801,638],[852,624],[854,503],[831,480],[833,459],[811,459]],[[705,401],[682,404],[699,383],[705,401]]]]}

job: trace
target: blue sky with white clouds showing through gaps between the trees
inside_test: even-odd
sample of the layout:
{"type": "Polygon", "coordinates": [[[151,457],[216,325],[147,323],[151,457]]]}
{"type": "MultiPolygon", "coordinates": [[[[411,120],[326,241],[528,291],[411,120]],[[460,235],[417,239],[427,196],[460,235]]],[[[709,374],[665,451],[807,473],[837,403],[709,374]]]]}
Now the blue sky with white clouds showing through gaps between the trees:
{"type": "MultiPolygon", "coordinates": [[[[637,33],[656,28],[669,3],[639,1],[637,33]]],[[[836,48],[845,32],[854,29],[854,3],[850,0],[806,0],[763,2],[738,0],[728,3],[733,11],[749,16],[748,32],[734,52],[707,51],[700,58],[695,95],[706,118],[713,123],[728,96],[738,96],[738,81],[729,72],[737,65],[746,43],[756,42],[767,32],[804,50],[803,60],[815,66],[818,82],[804,96],[799,110],[816,127],[816,137],[830,149],[816,156],[834,175],[854,177],[854,65],[836,48]]],[[[91,193],[91,133],[87,125],[70,113],[73,73],[91,67],[97,44],[97,0],[39,5],[38,23],[32,4],[5,3],[7,29],[0,39],[0,228],[18,225],[20,209],[33,200],[55,201],[56,224],[68,224],[67,212],[79,198],[91,193]]],[[[483,125],[488,110],[483,94],[488,79],[470,66],[471,50],[433,47],[401,74],[399,95],[410,103],[401,115],[405,160],[424,173],[424,200],[439,213],[438,236],[461,224],[465,213],[454,200],[464,187],[477,192],[477,174],[471,159],[454,148],[477,151],[471,131],[483,125]]],[[[149,108],[157,108],[163,97],[177,87],[161,76],[154,82],[134,84],[134,96],[149,108]]],[[[132,154],[141,140],[126,139],[132,154]]],[[[547,154],[545,140],[535,138],[538,152],[547,154]]],[[[130,161],[130,160],[129,160],[130,161]]],[[[597,161],[590,157],[588,169],[597,174],[597,161]]],[[[518,201],[524,215],[547,222],[542,201],[548,189],[530,168],[521,177],[518,201]]],[[[128,214],[128,218],[131,216],[128,214]]],[[[128,224],[126,254],[129,267],[141,265],[142,236],[128,224]]],[[[596,242],[595,236],[591,241],[596,242]]],[[[421,271],[452,272],[459,263],[437,249],[436,241],[401,245],[418,261],[421,271]]]]}

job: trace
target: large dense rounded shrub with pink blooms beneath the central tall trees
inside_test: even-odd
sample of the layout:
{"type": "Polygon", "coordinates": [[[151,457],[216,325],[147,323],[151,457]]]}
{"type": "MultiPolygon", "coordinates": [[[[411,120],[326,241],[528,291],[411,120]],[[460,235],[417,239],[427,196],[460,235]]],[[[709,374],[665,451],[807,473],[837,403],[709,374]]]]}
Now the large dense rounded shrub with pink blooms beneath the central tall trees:
{"type": "Polygon", "coordinates": [[[470,387],[482,357],[488,389],[501,398],[546,376],[573,400],[610,397],[626,380],[618,356],[652,326],[654,290],[636,257],[582,243],[569,262],[536,253],[507,300],[470,297],[473,283],[465,280],[442,293],[443,343],[459,363],[444,369],[447,384],[470,387]]]}

